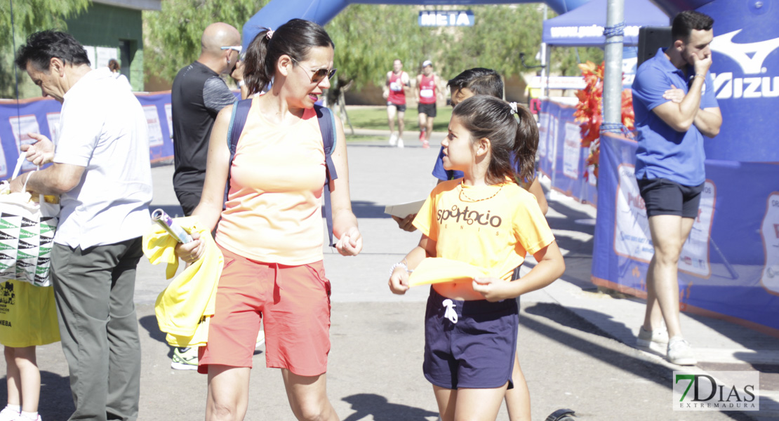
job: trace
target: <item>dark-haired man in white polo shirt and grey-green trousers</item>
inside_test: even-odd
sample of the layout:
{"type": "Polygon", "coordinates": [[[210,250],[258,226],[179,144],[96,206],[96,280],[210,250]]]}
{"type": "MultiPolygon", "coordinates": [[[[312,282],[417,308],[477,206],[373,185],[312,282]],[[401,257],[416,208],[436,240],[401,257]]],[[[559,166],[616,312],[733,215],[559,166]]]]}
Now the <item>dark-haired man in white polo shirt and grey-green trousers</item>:
{"type": "Polygon", "coordinates": [[[150,226],[149,140],[143,108],[108,72],[90,68],[81,44],[51,30],[19,47],[16,65],[62,103],[59,139],[23,146],[52,165],[22,174],[12,191],[60,195],[52,248],[62,350],[76,411],[69,419],[138,417],[140,342],[133,293],[141,235],[150,226]]]}

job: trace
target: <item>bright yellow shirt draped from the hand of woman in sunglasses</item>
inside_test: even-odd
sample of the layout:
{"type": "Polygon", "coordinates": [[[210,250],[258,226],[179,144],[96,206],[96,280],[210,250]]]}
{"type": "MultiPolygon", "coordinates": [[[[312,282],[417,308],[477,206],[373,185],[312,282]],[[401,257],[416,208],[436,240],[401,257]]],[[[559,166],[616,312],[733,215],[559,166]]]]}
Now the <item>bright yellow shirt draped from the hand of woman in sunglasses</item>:
{"type": "MultiPolygon", "coordinates": [[[[208,340],[208,322],[213,316],[224,257],[211,233],[197,226],[197,217],[176,218],[174,221],[187,232],[200,234],[200,240],[206,247],[205,253],[157,296],[154,314],[157,315],[160,331],[167,333],[165,340],[171,346],[204,346],[208,340]]],[[[176,240],[157,224],[143,235],[143,254],[152,265],[167,263],[167,279],[173,278],[178,270],[178,257],[174,252],[176,244],[176,240]]]]}

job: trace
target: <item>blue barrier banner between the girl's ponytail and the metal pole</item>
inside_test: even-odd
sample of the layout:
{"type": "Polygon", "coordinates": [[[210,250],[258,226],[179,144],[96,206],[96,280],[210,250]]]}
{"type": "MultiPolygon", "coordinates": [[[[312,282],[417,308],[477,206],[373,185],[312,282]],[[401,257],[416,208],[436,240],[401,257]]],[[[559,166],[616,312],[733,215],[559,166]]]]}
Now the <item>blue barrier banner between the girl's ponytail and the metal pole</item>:
{"type": "Polygon", "coordinates": [[[553,101],[541,103],[538,114],[539,170],[552,180],[552,188],[580,202],[597,204],[597,181],[587,167],[590,151],[581,146],[581,126],[574,121],[575,107],[553,101]],[[587,177],[585,177],[587,172],[587,177]]]}

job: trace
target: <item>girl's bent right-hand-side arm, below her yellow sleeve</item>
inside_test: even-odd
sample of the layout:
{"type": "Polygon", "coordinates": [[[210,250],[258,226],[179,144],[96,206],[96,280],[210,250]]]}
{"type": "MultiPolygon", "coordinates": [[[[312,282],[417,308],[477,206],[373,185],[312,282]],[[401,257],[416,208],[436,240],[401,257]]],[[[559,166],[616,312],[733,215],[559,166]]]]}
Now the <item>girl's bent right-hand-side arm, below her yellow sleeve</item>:
{"type": "Polygon", "coordinates": [[[548,286],[566,272],[566,262],[562,259],[556,241],[537,251],[533,257],[538,265],[522,279],[506,282],[497,278],[477,278],[474,279],[474,291],[481,293],[488,301],[506,300],[548,286]]]}

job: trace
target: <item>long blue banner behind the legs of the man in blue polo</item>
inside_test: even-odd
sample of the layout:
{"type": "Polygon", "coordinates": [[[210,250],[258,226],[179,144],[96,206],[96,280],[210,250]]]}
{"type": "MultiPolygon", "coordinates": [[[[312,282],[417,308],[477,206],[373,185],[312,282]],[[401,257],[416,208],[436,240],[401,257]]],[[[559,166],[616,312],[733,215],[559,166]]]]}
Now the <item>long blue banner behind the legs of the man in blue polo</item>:
{"type": "MultiPolygon", "coordinates": [[[[634,176],[636,142],[601,137],[592,279],[646,297],[653,244],[634,176]]],[[[707,160],[679,258],[682,310],[779,335],[779,164],[707,160]]],[[[639,321],[636,321],[638,323],[639,321]]]]}

